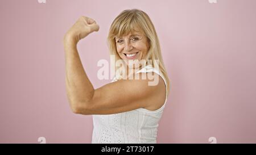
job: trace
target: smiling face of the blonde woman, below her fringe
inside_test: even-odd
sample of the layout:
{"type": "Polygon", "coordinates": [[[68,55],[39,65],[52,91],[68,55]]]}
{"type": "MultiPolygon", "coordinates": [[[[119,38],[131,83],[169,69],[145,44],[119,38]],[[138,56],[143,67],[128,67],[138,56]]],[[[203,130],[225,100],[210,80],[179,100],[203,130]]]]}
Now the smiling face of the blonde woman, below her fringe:
{"type": "MultiPolygon", "coordinates": [[[[126,36],[115,37],[118,55],[128,65],[129,61],[142,60],[147,55],[149,43],[140,31],[132,31],[126,36]]],[[[129,67],[130,68],[130,67],[129,67]]]]}

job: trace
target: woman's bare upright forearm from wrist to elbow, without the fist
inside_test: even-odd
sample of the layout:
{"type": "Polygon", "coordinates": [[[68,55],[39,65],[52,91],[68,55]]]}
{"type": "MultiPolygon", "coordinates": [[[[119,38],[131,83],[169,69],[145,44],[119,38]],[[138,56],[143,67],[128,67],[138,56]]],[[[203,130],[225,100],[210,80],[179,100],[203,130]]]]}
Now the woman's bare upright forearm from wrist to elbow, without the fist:
{"type": "Polygon", "coordinates": [[[77,43],[69,37],[64,37],[65,51],[65,82],[69,104],[77,111],[81,104],[86,104],[92,98],[94,88],[82,66],[77,43]]]}

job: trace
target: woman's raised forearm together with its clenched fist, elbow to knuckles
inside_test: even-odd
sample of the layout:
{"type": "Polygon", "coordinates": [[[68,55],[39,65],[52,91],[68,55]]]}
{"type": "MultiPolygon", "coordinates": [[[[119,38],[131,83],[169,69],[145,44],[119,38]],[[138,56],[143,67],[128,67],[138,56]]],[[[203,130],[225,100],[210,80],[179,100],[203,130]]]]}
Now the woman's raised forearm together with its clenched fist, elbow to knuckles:
{"type": "Polygon", "coordinates": [[[75,113],[80,108],[79,103],[88,102],[94,93],[93,85],[82,66],[77,43],[89,33],[98,30],[99,26],[93,19],[81,16],[64,36],[65,83],[69,104],[75,113]]]}

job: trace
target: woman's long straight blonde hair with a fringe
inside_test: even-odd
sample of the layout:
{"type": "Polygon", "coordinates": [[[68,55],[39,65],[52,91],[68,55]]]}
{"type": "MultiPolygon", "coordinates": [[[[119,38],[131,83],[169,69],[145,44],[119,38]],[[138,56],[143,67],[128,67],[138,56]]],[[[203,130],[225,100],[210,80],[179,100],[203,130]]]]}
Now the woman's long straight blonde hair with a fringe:
{"type": "Polygon", "coordinates": [[[145,12],[138,9],[124,10],[114,19],[110,26],[108,35],[110,55],[115,56],[115,61],[122,59],[117,53],[115,36],[125,36],[137,28],[144,32],[144,35],[146,35],[148,43],[150,44],[150,48],[148,49],[146,58],[144,59],[146,61],[152,60],[153,67],[155,66],[154,60],[159,60],[159,70],[166,79],[167,94],[169,94],[170,81],[168,79],[166,68],[164,67],[158,35],[156,34],[153,23],[145,12]]]}

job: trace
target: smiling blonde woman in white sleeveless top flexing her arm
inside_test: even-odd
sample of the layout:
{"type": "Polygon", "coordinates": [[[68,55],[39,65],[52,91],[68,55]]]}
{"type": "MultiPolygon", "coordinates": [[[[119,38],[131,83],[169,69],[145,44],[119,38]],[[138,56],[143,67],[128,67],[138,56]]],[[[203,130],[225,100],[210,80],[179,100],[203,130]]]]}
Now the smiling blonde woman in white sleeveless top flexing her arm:
{"type": "Polygon", "coordinates": [[[92,143],[156,143],[169,80],[150,18],[145,12],[133,9],[122,11],[114,19],[108,36],[110,54],[125,65],[117,67],[112,82],[94,89],[76,45],[98,30],[93,19],[81,16],[64,36],[66,89],[72,111],[93,115],[92,143]],[[149,73],[159,79],[155,85],[149,85],[152,82],[149,73]]]}

